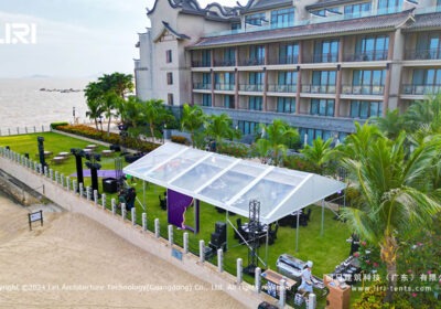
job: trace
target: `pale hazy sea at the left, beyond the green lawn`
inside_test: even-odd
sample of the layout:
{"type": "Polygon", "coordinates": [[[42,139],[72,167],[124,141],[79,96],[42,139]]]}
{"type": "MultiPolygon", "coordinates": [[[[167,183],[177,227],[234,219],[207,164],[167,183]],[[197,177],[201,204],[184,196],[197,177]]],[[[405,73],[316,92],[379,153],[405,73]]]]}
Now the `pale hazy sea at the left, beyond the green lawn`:
{"type": "Polygon", "coordinates": [[[94,78],[25,77],[0,78],[1,135],[24,128],[49,127],[54,121],[79,122],[87,119],[84,88],[94,78]],[[41,90],[41,89],[45,90],[41,90]],[[76,92],[65,92],[74,89],[76,92]]]}

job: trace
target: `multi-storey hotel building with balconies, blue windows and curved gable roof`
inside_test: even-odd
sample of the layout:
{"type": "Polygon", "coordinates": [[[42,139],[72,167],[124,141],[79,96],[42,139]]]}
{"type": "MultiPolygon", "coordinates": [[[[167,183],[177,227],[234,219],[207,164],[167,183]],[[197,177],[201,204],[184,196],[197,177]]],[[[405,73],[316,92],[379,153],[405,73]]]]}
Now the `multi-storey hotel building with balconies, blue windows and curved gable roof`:
{"type": "Polygon", "coordinates": [[[441,0],[157,0],[148,17],[137,95],[227,113],[244,135],[280,118],[343,139],[441,87],[441,0]]]}

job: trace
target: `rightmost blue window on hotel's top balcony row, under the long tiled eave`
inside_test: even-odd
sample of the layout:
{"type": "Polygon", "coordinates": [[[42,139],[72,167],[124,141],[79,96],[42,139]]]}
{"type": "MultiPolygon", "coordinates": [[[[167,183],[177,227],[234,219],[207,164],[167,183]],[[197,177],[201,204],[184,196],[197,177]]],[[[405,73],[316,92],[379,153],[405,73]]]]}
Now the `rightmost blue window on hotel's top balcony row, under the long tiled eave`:
{"type": "Polygon", "coordinates": [[[355,44],[356,60],[378,61],[387,60],[389,36],[374,35],[359,39],[355,44]]]}

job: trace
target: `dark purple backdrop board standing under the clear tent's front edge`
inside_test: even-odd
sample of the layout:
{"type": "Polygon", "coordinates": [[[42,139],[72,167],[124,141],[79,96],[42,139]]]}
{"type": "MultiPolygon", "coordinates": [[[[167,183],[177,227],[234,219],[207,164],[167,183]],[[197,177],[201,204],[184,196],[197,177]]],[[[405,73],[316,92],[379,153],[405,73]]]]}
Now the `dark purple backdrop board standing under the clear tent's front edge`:
{"type": "MultiPolygon", "coordinates": [[[[183,230],[190,230],[195,232],[194,228],[185,224],[185,212],[190,206],[195,204],[195,200],[192,196],[168,189],[166,204],[168,204],[166,210],[170,224],[173,224],[183,230]]],[[[198,224],[196,223],[196,233],[198,230],[197,225],[198,224]]]]}

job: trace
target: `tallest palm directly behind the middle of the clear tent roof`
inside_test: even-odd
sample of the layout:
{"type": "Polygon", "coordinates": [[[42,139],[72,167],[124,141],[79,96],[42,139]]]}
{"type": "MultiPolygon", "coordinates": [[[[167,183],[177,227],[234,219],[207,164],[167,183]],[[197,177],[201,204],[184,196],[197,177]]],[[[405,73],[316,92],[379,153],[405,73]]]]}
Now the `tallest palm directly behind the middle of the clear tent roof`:
{"type": "Polygon", "coordinates": [[[258,147],[270,149],[275,166],[279,166],[282,162],[282,157],[287,153],[288,145],[291,141],[299,140],[299,132],[280,119],[272,120],[269,126],[262,125],[261,128],[263,137],[257,141],[258,145],[260,143],[258,147]]]}

